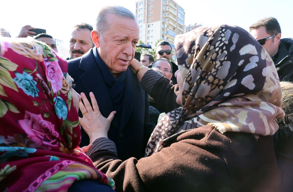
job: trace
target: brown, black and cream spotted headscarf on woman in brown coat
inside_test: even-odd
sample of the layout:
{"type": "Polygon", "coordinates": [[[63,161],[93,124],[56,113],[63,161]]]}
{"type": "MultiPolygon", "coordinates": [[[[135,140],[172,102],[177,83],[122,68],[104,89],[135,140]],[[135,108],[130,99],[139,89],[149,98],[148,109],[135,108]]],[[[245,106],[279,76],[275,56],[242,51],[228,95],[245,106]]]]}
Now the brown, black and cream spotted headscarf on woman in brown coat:
{"type": "Polygon", "coordinates": [[[244,29],[200,27],[175,38],[183,82],[182,107],[151,134],[146,156],[178,132],[213,124],[221,133],[273,135],[284,117],[277,71],[265,49],[244,29]]]}

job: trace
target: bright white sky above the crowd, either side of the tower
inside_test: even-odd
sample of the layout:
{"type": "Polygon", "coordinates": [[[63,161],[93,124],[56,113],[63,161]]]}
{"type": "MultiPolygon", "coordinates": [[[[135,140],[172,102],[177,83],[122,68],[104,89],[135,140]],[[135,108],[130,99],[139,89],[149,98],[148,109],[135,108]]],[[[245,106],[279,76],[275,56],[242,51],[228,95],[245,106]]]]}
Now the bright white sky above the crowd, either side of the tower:
{"type": "MultiPolygon", "coordinates": [[[[156,1],[156,0],[155,0],[156,1]]],[[[73,25],[86,22],[94,24],[100,7],[120,5],[135,13],[135,0],[50,0],[50,1],[16,1],[1,2],[0,26],[17,36],[21,27],[31,25],[47,30],[47,34],[69,42],[73,25]]],[[[277,18],[281,25],[282,38],[293,37],[291,11],[293,1],[289,0],[178,0],[185,10],[185,25],[201,23],[233,24],[248,30],[249,25],[263,17],[277,18]]],[[[68,43],[69,46],[69,43],[68,43]]]]}

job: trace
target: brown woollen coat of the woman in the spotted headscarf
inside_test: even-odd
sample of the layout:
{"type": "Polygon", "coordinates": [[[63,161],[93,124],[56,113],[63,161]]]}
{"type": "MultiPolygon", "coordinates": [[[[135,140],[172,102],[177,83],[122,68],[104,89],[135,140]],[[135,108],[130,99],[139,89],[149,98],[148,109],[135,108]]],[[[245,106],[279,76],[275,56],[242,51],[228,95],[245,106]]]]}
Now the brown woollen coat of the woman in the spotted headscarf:
{"type": "MultiPolygon", "coordinates": [[[[121,161],[115,153],[90,156],[115,181],[117,191],[278,191],[273,138],[221,134],[213,126],[165,139],[150,157],[121,161]]],[[[135,145],[135,144],[134,144],[135,145]]]]}

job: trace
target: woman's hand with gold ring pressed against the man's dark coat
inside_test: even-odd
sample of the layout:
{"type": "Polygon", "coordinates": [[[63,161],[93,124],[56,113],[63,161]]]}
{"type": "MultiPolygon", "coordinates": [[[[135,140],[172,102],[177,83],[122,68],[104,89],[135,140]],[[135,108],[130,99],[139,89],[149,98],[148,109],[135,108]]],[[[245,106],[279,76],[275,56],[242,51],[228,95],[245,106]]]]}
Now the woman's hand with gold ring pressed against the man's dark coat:
{"type": "Polygon", "coordinates": [[[87,100],[86,95],[81,93],[81,99],[84,103],[79,102],[79,108],[83,113],[83,117],[79,117],[79,123],[82,128],[86,131],[86,134],[90,137],[90,144],[92,144],[95,139],[100,137],[108,138],[108,131],[110,128],[110,123],[114,118],[115,111],[112,111],[108,118],[102,116],[95,95],[90,92],[91,103],[87,100]]]}

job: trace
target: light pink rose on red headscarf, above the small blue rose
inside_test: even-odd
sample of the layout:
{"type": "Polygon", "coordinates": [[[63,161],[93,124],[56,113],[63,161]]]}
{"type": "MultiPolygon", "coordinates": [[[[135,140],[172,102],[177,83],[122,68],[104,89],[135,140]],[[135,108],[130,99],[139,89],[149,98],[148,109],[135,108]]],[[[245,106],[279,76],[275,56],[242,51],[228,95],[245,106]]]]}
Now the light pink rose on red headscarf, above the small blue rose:
{"type": "Polygon", "coordinates": [[[46,66],[46,77],[51,82],[51,87],[54,93],[62,89],[64,75],[58,65],[58,61],[47,62],[44,60],[46,66]]]}

